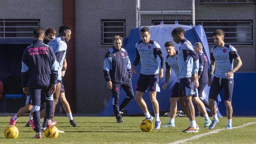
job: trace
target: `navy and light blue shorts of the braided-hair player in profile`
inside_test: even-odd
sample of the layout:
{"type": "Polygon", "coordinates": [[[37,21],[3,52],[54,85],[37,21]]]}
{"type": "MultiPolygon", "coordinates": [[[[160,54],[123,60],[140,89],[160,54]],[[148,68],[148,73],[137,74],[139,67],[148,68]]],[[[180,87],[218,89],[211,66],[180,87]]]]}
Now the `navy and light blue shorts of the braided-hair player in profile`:
{"type": "Polygon", "coordinates": [[[179,97],[185,97],[188,95],[197,97],[195,83],[191,83],[191,78],[181,78],[179,81],[179,97]]]}

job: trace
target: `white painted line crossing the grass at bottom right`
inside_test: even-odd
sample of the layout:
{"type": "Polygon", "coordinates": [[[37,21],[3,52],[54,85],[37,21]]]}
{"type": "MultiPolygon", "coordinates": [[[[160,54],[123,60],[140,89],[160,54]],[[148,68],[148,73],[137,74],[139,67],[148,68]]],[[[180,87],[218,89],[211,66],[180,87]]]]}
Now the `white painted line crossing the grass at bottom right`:
{"type": "MultiPolygon", "coordinates": [[[[237,128],[241,128],[241,127],[246,127],[248,125],[252,125],[252,124],[255,124],[256,122],[248,122],[248,123],[245,123],[241,126],[238,126],[238,127],[233,127],[233,129],[237,129],[237,128]]],[[[206,135],[209,135],[209,134],[212,134],[212,133],[217,133],[219,131],[223,131],[225,129],[216,129],[216,130],[213,130],[213,131],[210,131],[210,132],[207,132],[207,133],[204,133],[204,134],[198,134],[196,136],[192,136],[191,138],[186,138],[186,139],[183,139],[183,140],[178,140],[178,141],[175,141],[173,143],[169,143],[169,144],[178,144],[178,143],[184,143],[186,141],[190,141],[190,140],[194,140],[194,139],[197,139],[197,138],[200,138],[202,136],[206,136],[206,135]]]]}

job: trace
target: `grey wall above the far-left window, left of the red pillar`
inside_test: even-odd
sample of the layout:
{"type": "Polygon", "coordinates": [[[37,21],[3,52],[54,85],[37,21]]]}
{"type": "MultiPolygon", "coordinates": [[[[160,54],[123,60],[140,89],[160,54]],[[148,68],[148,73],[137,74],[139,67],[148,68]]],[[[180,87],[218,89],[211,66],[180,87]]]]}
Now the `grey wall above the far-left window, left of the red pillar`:
{"type": "Polygon", "coordinates": [[[62,25],[62,1],[0,0],[0,14],[0,19],[40,19],[41,27],[53,27],[58,32],[62,25]]]}

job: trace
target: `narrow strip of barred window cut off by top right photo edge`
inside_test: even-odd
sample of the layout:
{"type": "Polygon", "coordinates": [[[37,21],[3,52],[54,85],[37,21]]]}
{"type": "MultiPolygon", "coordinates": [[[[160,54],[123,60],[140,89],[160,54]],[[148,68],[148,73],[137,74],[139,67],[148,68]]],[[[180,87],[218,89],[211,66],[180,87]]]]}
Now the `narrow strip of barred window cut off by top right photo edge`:
{"type": "Polygon", "coordinates": [[[200,0],[200,4],[255,4],[255,0],[200,0]]]}

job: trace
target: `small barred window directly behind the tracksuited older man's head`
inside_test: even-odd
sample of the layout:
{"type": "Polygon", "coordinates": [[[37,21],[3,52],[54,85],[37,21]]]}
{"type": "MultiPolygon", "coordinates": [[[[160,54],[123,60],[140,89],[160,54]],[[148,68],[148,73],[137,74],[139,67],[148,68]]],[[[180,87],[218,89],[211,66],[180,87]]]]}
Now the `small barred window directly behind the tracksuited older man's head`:
{"type": "Polygon", "coordinates": [[[115,35],[125,38],[125,20],[102,20],[102,44],[112,45],[115,35]]]}

